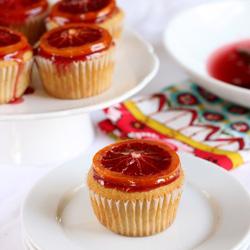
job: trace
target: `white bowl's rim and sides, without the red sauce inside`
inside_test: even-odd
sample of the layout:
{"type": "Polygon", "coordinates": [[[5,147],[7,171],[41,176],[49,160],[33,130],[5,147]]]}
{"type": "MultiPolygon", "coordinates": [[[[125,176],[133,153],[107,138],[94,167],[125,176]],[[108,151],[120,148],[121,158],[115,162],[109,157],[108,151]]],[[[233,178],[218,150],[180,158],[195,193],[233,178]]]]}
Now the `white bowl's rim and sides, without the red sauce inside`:
{"type": "Polygon", "coordinates": [[[209,76],[208,57],[223,45],[250,39],[250,1],[202,4],[179,13],[164,32],[169,54],[192,80],[217,96],[250,108],[250,90],[209,76]]]}

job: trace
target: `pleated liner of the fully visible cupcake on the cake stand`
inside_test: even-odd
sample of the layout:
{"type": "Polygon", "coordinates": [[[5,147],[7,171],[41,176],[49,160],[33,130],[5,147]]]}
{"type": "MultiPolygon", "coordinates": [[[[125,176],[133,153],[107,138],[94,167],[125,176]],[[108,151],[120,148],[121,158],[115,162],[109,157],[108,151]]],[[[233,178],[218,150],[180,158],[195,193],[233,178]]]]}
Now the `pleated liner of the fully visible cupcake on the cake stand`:
{"type": "Polygon", "coordinates": [[[45,91],[57,98],[80,99],[107,90],[113,77],[116,49],[112,47],[98,56],[69,65],[53,63],[37,56],[36,62],[45,91]]]}

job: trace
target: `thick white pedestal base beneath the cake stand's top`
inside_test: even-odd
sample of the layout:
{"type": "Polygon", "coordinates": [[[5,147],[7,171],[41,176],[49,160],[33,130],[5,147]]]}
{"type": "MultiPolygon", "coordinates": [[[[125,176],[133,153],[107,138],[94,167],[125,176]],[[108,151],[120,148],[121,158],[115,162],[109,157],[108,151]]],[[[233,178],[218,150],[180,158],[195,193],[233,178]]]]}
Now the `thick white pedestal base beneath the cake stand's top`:
{"type": "Polygon", "coordinates": [[[0,122],[1,163],[43,165],[65,161],[94,140],[88,113],[38,120],[0,122]],[[1,145],[2,144],[2,145],[1,145]]]}

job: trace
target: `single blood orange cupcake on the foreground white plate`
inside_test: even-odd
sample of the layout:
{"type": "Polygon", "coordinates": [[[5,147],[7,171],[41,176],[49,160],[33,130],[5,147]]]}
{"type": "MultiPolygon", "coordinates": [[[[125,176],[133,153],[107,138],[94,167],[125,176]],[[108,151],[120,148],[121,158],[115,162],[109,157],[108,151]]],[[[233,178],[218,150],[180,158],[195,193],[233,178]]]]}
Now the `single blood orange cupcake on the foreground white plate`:
{"type": "Polygon", "coordinates": [[[98,151],[88,173],[99,222],[125,236],[149,236],[174,221],[185,183],[174,150],[149,140],[126,140],[98,151]]]}

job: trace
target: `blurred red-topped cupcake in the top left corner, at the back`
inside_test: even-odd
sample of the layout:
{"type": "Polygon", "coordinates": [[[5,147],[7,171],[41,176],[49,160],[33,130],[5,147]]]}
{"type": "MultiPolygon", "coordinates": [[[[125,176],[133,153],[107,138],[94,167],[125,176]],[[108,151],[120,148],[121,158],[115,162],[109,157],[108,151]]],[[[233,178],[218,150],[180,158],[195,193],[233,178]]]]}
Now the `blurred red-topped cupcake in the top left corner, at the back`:
{"type": "Polygon", "coordinates": [[[46,0],[0,1],[0,25],[22,32],[31,45],[45,32],[44,18],[47,14],[46,0]]]}

